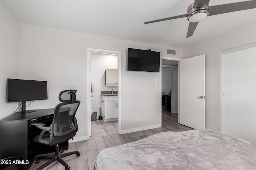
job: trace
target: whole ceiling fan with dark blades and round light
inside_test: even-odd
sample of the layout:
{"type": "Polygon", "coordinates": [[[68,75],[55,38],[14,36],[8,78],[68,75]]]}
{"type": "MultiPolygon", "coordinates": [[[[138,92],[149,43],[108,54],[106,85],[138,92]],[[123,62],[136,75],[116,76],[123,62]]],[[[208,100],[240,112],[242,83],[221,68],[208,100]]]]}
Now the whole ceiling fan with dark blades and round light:
{"type": "Polygon", "coordinates": [[[195,0],[190,6],[188,6],[187,14],[173,16],[168,18],[162,18],[159,20],[147,21],[147,23],[154,23],[166,20],[173,20],[177,18],[187,17],[189,23],[187,38],[191,37],[196,29],[196,26],[199,21],[204,20],[208,16],[214,16],[218,14],[224,14],[228,12],[235,12],[241,10],[248,10],[252,8],[256,8],[256,0],[249,0],[244,2],[235,2],[231,4],[223,4],[216,6],[209,6],[210,0],[195,0]]]}

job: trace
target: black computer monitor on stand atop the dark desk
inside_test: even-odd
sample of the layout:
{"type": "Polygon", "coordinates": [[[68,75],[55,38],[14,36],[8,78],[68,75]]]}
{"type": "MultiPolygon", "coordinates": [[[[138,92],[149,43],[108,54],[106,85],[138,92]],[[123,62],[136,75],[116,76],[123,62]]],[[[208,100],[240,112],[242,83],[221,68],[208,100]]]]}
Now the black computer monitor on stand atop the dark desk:
{"type": "Polygon", "coordinates": [[[18,113],[30,113],[36,111],[26,111],[26,101],[48,99],[47,82],[8,78],[7,99],[8,102],[22,102],[22,111],[18,113]]]}

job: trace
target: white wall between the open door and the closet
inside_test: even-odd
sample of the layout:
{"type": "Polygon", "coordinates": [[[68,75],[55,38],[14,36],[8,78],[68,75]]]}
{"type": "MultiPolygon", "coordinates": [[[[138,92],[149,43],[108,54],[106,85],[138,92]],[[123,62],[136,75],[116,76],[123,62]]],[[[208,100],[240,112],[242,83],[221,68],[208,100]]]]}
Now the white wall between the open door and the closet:
{"type": "Polygon", "coordinates": [[[221,131],[221,51],[256,42],[256,23],[184,48],[184,58],[206,54],[206,128],[221,131]]]}

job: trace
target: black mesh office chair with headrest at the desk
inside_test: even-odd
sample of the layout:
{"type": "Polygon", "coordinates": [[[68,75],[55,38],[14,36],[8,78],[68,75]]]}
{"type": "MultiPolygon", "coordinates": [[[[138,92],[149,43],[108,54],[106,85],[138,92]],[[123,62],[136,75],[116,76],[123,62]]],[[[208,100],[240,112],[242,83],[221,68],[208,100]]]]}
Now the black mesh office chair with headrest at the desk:
{"type": "Polygon", "coordinates": [[[54,117],[52,124],[49,127],[46,127],[43,123],[31,123],[42,129],[40,135],[37,135],[33,138],[34,142],[42,143],[44,145],[55,145],[55,155],[53,156],[38,156],[36,158],[36,163],[40,162],[40,159],[50,159],[48,162],[40,166],[37,170],[42,170],[55,160],[60,162],[65,166],[65,170],[69,170],[70,166],[62,160],[63,157],[76,154],[80,156],[80,152],[73,151],[64,154],[63,149],[59,147],[61,143],[73,139],[78,130],[77,121],[76,121],[76,111],[80,105],[80,101],[76,100],[76,90],[65,90],[60,92],[59,95],[60,104],[55,107],[54,117]]]}

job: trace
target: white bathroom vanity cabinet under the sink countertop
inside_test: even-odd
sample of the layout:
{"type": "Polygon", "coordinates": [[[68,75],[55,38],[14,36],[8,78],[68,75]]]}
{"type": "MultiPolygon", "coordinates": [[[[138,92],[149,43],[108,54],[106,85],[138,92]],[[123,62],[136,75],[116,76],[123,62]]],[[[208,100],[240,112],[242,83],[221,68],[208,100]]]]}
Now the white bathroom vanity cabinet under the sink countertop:
{"type": "Polygon", "coordinates": [[[104,121],[116,121],[118,118],[117,96],[102,96],[102,117],[104,121]]]}

